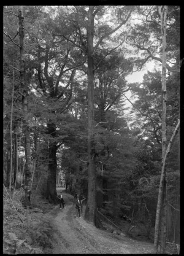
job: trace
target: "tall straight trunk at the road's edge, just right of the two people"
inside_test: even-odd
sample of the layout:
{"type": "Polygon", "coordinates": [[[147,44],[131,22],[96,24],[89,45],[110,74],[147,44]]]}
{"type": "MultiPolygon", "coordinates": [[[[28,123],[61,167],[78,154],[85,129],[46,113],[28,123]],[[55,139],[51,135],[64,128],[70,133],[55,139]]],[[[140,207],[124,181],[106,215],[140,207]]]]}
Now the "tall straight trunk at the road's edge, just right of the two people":
{"type": "Polygon", "coordinates": [[[96,169],[94,149],[94,67],[93,67],[93,37],[94,37],[94,6],[89,7],[87,41],[88,41],[88,201],[85,219],[96,225],[96,169]]]}

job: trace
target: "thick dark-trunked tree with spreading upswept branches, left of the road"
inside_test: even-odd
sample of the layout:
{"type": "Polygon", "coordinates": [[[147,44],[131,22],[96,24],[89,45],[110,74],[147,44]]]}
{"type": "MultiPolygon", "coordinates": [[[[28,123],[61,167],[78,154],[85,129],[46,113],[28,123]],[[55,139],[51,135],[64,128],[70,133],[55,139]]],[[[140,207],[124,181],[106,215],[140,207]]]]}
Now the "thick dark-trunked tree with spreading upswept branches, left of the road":
{"type": "MultiPolygon", "coordinates": [[[[32,14],[31,9],[28,15],[32,14]]],[[[33,23],[36,31],[29,33],[29,42],[36,45],[36,49],[34,48],[36,52],[33,52],[33,49],[29,50],[31,57],[34,56],[34,60],[30,60],[29,63],[34,72],[32,81],[36,83],[36,90],[44,99],[45,106],[48,106],[46,133],[50,138],[48,138],[48,177],[45,196],[56,203],[56,152],[63,142],[59,139],[59,136],[62,136],[62,132],[60,133],[62,128],[58,115],[67,112],[72,102],[75,68],[67,66],[67,63],[72,60],[70,56],[73,48],[71,43],[68,44],[65,39],[60,39],[60,35],[55,34],[56,31],[59,33],[63,29],[56,26],[58,15],[52,18],[52,13],[48,14],[41,9],[36,11],[45,18],[45,21],[40,20],[39,29],[37,22],[33,23]]]]}

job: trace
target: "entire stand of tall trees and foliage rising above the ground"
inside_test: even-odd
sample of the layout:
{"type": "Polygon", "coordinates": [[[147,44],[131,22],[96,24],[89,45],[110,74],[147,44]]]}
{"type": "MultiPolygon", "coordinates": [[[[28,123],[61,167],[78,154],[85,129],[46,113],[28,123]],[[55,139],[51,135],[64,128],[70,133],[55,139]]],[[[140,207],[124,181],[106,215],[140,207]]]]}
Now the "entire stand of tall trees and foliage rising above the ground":
{"type": "Polygon", "coordinates": [[[180,66],[180,6],[4,6],[4,189],[180,244],[180,66]]]}

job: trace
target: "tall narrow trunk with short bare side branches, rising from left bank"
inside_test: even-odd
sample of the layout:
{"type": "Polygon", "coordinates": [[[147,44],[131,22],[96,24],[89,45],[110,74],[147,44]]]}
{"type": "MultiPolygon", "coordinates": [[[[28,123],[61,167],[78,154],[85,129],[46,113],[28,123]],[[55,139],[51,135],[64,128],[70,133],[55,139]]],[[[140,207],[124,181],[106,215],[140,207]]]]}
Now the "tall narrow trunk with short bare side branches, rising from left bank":
{"type": "Polygon", "coordinates": [[[31,145],[29,139],[29,120],[28,120],[28,88],[26,85],[26,68],[25,68],[25,26],[23,17],[23,6],[18,8],[19,20],[19,36],[20,36],[20,81],[22,89],[22,106],[23,106],[23,131],[25,134],[25,206],[29,207],[31,204],[31,145]]]}

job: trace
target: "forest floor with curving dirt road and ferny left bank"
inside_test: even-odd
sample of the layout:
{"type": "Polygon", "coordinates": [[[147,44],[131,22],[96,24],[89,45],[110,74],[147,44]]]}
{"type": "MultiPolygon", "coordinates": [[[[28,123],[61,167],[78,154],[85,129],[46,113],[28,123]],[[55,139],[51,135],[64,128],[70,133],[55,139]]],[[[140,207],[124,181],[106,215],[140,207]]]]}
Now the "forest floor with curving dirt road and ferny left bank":
{"type": "Polygon", "coordinates": [[[42,211],[23,212],[15,205],[20,209],[17,214],[4,193],[3,254],[153,254],[151,242],[137,241],[123,231],[111,233],[108,223],[102,230],[86,222],[85,209],[76,219],[74,196],[63,191],[63,198],[66,209],[40,198],[37,208],[42,211]]]}

